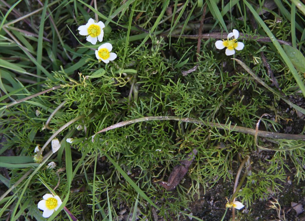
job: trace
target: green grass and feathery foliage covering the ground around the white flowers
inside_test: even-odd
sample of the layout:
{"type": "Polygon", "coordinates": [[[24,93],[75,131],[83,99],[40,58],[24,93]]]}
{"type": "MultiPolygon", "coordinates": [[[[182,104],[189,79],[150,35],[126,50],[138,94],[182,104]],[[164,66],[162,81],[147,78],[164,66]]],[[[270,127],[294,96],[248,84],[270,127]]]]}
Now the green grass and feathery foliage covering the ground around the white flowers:
{"type": "Polygon", "coordinates": [[[1,219],[42,220],[37,203],[52,190],[63,204],[48,220],[72,220],[66,209],[78,220],[210,220],[211,211],[228,220],[225,197],[247,156],[237,200],[253,217],[268,191],[280,198],[288,174],[304,182],[303,5],[265,2],[0,2],[1,219]],[[96,16],[106,27],[92,45],[77,28],[96,16]],[[233,29],[245,47],[226,56],[215,42],[233,29]],[[99,63],[106,42],[117,59],[99,63]],[[187,174],[166,191],[158,182],[194,148],[187,174]],[[219,209],[203,204],[210,195],[219,209]]]}

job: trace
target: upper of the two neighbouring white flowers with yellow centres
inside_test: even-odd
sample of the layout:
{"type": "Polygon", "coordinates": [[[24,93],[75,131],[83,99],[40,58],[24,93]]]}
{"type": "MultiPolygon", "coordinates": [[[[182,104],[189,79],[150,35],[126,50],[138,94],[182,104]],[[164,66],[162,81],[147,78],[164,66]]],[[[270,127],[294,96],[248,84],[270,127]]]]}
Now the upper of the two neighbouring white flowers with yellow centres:
{"type": "Polygon", "coordinates": [[[93,45],[95,45],[97,39],[99,39],[99,42],[102,42],[104,36],[104,27],[105,25],[101,21],[94,22],[94,20],[90,18],[87,24],[81,25],[77,30],[79,31],[80,35],[87,36],[86,40],[88,42],[91,42],[93,45]]]}

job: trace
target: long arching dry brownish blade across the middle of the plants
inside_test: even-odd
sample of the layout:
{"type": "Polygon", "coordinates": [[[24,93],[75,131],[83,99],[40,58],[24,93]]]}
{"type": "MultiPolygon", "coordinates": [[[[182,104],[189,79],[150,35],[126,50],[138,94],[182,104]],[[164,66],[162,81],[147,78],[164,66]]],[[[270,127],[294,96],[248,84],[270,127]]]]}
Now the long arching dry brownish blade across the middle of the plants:
{"type": "MultiPolygon", "coordinates": [[[[216,127],[218,129],[223,129],[223,130],[231,130],[231,131],[246,133],[246,134],[250,134],[250,135],[255,135],[254,129],[241,127],[241,126],[231,126],[231,125],[228,126],[228,125],[221,124],[221,123],[201,121],[201,120],[197,120],[195,118],[179,118],[179,117],[174,117],[174,116],[152,116],[152,117],[143,117],[143,118],[138,118],[138,119],[133,119],[133,120],[122,121],[120,123],[111,125],[105,129],[102,129],[99,132],[95,133],[92,136],[92,142],[94,141],[95,135],[97,135],[99,133],[106,132],[108,130],[116,129],[119,127],[123,127],[125,125],[142,122],[142,121],[157,121],[157,120],[159,120],[159,121],[163,121],[163,120],[183,121],[183,122],[195,123],[195,124],[200,124],[200,125],[209,125],[210,127],[216,127]]],[[[304,140],[305,141],[305,135],[274,133],[274,132],[267,132],[267,131],[262,131],[262,130],[258,130],[257,135],[261,136],[261,137],[272,138],[272,139],[291,139],[291,140],[304,140]]],[[[280,149],[280,150],[283,151],[285,149],[280,149]]]]}

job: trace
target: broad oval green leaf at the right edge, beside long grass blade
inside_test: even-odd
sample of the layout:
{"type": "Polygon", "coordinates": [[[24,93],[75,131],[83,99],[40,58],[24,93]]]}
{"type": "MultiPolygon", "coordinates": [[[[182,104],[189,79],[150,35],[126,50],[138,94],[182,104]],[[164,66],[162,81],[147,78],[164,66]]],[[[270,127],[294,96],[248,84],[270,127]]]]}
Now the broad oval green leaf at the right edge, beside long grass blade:
{"type": "Polygon", "coordinates": [[[298,49],[291,47],[290,45],[283,45],[283,49],[296,70],[305,73],[305,57],[303,54],[298,49]]]}

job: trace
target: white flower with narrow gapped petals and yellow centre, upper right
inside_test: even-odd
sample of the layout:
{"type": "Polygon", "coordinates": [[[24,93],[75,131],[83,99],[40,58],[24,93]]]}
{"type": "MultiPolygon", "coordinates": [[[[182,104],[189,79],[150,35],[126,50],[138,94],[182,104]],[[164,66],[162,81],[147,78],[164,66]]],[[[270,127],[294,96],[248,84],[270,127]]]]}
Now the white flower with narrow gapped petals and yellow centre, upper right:
{"type": "Polygon", "coordinates": [[[226,55],[233,55],[235,54],[235,50],[242,50],[244,48],[244,44],[242,42],[237,42],[237,38],[239,36],[239,31],[237,31],[236,29],[233,29],[233,32],[228,34],[227,40],[219,40],[217,42],[215,42],[215,46],[217,49],[224,49],[225,47],[227,47],[226,49],[226,55]],[[231,37],[233,37],[233,39],[230,39],[231,37]]]}

